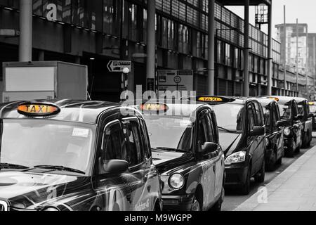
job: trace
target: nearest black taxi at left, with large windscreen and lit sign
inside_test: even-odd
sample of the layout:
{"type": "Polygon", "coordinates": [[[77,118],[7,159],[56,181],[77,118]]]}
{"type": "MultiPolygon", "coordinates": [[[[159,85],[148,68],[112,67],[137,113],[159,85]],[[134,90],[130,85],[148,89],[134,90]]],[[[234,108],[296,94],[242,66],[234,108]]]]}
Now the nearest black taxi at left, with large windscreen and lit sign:
{"type": "Polygon", "coordinates": [[[137,110],[98,101],[14,102],[0,105],[0,129],[1,211],[162,210],[137,110]]]}

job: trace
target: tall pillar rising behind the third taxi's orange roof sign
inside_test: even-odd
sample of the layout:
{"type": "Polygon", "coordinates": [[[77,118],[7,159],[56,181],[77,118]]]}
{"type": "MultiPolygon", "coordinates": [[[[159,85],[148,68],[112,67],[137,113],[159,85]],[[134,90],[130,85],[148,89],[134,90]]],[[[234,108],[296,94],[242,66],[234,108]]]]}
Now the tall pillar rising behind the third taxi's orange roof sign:
{"type": "Polygon", "coordinates": [[[215,95],[215,0],[209,0],[209,41],[208,41],[208,84],[209,95],[215,95]]]}

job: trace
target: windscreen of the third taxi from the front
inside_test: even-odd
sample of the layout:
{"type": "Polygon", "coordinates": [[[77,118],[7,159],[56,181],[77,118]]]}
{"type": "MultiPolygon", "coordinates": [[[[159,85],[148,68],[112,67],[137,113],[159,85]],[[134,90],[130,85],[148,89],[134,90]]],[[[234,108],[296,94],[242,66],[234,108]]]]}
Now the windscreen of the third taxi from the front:
{"type": "Polygon", "coordinates": [[[219,131],[241,132],[244,129],[244,105],[223,104],[212,106],[219,131]]]}

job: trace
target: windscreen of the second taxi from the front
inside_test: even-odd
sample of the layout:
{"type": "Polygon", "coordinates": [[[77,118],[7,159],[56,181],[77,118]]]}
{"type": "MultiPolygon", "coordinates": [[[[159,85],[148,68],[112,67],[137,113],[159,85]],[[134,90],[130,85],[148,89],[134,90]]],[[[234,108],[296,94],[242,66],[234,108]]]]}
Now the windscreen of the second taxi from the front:
{"type": "Polygon", "coordinates": [[[190,117],[145,115],[152,148],[190,151],[192,122],[190,117]]]}

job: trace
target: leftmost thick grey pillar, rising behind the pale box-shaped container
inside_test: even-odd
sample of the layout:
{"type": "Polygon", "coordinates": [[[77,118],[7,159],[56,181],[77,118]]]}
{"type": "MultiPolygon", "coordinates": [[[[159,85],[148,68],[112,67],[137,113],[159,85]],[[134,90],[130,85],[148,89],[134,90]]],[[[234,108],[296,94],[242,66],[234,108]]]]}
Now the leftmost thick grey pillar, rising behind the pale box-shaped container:
{"type": "Polygon", "coordinates": [[[20,62],[32,61],[32,0],[20,0],[20,62]]]}

